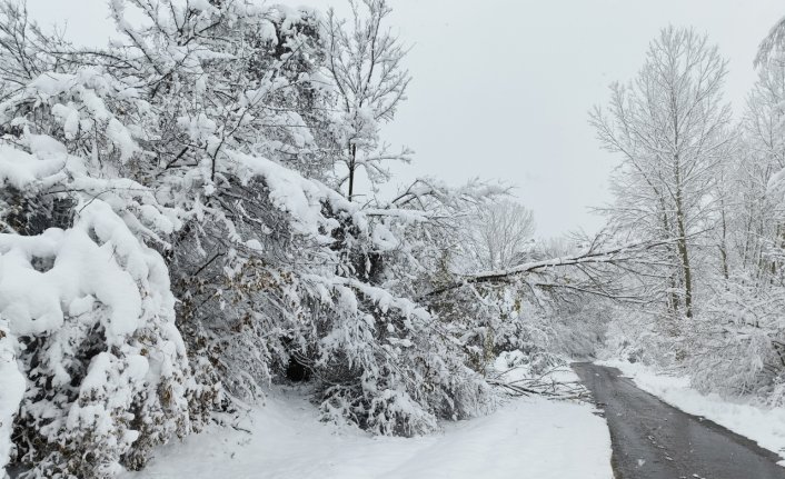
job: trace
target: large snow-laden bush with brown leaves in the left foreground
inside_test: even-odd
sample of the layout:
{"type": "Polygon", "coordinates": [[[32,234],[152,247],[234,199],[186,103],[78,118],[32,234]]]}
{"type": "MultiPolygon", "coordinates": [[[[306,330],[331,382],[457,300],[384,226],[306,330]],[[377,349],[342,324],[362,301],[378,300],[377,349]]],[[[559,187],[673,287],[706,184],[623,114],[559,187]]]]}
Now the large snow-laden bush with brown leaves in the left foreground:
{"type": "Polygon", "coordinates": [[[3,359],[19,368],[10,379],[26,379],[21,401],[7,408],[16,461],[31,467],[28,477],[138,468],[152,447],[196,426],[168,270],[141,237],[142,222],[166,217],[149,204],[140,219],[132,204],[88,192],[101,181],[52,138],[21,142],[30,152],[0,147],[3,191],[24,198],[0,210],[3,359]]]}

